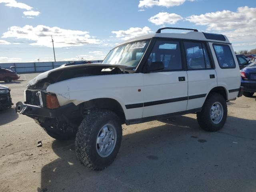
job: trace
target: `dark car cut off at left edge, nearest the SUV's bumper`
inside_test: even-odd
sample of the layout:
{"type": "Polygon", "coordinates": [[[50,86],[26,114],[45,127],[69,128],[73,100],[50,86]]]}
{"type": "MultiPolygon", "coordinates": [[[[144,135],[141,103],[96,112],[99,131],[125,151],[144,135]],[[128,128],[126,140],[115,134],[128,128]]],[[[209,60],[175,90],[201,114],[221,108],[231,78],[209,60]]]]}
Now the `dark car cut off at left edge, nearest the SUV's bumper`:
{"type": "Polygon", "coordinates": [[[9,87],[0,84],[0,110],[10,108],[13,105],[10,91],[9,87]]]}

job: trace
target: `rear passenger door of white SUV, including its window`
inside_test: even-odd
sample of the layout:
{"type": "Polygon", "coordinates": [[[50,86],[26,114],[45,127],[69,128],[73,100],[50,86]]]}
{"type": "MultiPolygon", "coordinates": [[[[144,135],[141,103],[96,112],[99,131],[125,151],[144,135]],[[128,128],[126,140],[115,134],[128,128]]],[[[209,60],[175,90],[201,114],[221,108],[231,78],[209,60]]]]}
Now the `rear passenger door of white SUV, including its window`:
{"type": "Polygon", "coordinates": [[[186,110],[201,108],[210,90],[217,86],[216,72],[204,42],[184,41],[188,68],[188,105],[186,110]]]}

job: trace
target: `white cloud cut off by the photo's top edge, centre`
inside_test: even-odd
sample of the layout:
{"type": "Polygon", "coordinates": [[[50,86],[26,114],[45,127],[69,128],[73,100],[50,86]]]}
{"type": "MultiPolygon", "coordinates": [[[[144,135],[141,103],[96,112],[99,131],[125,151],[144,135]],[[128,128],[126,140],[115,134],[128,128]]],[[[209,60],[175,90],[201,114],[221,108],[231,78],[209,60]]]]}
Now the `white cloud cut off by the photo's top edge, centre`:
{"type": "MultiPolygon", "coordinates": [[[[139,8],[142,7],[152,7],[152,6],[164,6],[164,7],[173,7],[179,6],[183,4],[186,0],[140,0],[138,5],[139,8]]],[[[187,1],[194,1],[194,0],[187,0],[187,1]]]]}

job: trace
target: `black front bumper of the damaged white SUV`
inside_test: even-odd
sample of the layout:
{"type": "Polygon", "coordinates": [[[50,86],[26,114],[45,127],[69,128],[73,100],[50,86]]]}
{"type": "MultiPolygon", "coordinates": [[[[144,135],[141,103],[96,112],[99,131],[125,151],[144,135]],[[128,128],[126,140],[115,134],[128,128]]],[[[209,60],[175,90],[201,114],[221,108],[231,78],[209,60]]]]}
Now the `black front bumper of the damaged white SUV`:
{"type": "Polygon", "coordinates": [[[38,117],[48,117],[57,118],[62,116],[64,113],[70,113],[77,110],[77,106],[74,103],[69,103],[56,109],[42,108],[36,105],[24,104],[23,102],[16,103],[14,107],[16,112],[24,114],[27,116],[38,116],[38,117]]]}

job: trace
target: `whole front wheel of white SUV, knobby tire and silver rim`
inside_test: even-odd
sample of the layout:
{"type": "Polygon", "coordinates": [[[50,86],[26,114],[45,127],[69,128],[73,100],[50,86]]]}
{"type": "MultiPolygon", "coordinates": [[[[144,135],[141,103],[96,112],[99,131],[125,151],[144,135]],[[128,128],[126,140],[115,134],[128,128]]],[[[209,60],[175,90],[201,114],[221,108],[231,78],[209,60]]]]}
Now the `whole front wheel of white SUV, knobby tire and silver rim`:
{"type": "Polygon", "coordinates": [[[82,121],[76,134],[76,155],[88,168],[102,170],[116,158],[122,141],[118,116],[109,110],[95,110],[82,121]]]}

